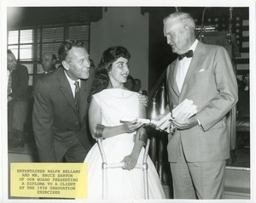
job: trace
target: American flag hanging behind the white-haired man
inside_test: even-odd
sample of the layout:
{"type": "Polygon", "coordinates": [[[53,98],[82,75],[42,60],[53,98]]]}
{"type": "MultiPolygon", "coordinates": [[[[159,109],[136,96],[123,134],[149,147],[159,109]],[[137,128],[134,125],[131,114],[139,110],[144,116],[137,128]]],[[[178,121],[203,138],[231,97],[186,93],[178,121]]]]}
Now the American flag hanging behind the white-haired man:
{"type": "MultiPolygon", "coordinates": [[[[201,20],[195,19],[197,26],[201,26],[201,20]]],[[[229,17],[218,16],[216,18],[207,18],[204,25],[214,27],[215,31],[229,30],[229,17]]],[[[236,15],[232,18],[232,34],[236,37],[240,57],[236,57],[236,74],[242,75],[249,70],[249,20],[236,15]]],[[[238,76],[240,77],[240,76],[238,76]]]]}

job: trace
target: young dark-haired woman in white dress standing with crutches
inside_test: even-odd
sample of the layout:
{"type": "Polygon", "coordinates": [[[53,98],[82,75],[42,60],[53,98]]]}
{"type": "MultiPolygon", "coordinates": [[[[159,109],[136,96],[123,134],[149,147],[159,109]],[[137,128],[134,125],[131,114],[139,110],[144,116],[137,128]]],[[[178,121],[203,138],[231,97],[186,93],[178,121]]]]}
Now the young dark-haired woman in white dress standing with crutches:
{"type": "MultiPolygon", "coordinates": [[[[144,152],[143,123],[136,119],[120,123],[124,118],[145,118],[146,109],[137,93],[124,87],[129,75],[130,54],[124,47],[108,48],[96,70],[90,98],[89,124],[94,136],[97,124],[103,126],[102,145],[109,163],[124,162],[122,168],[108,169],[108,199],[144,199],[142,163],[144,152]],[[140,135],[140,136],[139,136],[140,135]],[[139,138],[140,137],[140,138],[139,138]]],[[[95,144],[84,162],[88,166],[88,199],[102,199],[102,157],[95,144]]],[[[165,198],[159,176],[148,157],[149,199],[165,198]]]]}

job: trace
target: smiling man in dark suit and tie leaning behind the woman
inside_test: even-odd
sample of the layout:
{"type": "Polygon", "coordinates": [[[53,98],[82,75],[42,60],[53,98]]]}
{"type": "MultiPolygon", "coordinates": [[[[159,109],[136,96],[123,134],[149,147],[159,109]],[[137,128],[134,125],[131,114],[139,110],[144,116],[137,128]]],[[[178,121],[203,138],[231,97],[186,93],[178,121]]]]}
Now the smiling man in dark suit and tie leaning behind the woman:
{"type": "Polygon", "coordinates": [[[94,70],[84,42],[67,40],[58,54],[62,66],[39,77],[34,87],[32,126],[39,161],[83,162],[91,147],[86,116],[94,70]],[[80,87],[79,110],[74,82],[80,87]]]}

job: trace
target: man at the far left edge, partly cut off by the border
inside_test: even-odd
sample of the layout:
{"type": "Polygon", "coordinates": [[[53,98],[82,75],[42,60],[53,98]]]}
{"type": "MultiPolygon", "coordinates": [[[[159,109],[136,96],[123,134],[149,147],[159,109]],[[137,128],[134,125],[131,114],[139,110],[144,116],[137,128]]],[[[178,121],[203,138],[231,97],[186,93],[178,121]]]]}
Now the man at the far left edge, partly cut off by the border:
{"type": "Polygon", "coordinates": [[[15,55],[8,49],[8,139],[9,147],[24,146],[24,124],[27,116],[27,87],[28,71],[26,66],[20,65],[15,55]]]}

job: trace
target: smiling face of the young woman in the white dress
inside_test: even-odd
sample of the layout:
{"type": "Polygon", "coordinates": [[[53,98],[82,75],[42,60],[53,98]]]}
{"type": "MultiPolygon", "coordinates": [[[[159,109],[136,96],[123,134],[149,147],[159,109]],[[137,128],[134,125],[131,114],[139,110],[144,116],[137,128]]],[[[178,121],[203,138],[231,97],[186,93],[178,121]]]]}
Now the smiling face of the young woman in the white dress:
{"type": "Polygon", "coordinates": [[[113,87],[123,87],[129,75],[129,60],[119,57],[113,62],[108,72],[110,82],[113,87]]]}

